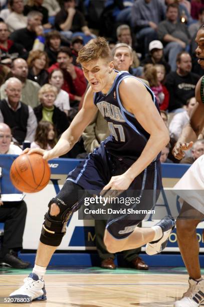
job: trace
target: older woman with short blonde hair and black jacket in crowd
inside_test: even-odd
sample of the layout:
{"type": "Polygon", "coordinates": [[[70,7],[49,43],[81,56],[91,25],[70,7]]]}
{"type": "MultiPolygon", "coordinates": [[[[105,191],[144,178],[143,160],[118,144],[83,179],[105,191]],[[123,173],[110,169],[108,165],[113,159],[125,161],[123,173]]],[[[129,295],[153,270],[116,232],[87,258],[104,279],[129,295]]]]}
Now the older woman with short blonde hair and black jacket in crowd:
{"type": "Polygon", "coordinates": [[[38,122],[47,120],[55,125],[58,137],[68,128],[69,124],[65,112],[54,105],[57,94],[55,86],[50,84],[43,85],[39,91],[41,104],[34,108],[34,112],[38,122]]]}

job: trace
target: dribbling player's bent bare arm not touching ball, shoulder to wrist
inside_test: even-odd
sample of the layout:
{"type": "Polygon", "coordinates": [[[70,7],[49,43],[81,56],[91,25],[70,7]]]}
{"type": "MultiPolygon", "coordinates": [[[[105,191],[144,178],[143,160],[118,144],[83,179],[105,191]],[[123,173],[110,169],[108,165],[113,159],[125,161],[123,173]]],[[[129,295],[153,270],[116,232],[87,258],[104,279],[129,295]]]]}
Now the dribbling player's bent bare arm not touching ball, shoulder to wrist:
{"type": "Polygon", "coordinates": [[[124,108],[134,114],[140,125],[150,134],[140,157],[126,172],[133,180],[169,142],[169,132],[152,102],[151,94],[141,82],[134,78],[124,79],[119,87],[119,94],[124,108]]]}

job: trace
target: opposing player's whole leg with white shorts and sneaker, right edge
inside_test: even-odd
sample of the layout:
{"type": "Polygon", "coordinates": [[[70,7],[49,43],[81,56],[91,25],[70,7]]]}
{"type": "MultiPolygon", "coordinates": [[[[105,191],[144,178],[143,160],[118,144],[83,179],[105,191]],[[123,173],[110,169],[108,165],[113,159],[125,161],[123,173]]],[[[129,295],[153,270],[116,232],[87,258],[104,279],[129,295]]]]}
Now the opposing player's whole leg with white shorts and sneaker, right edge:
{"type": "Polygon", "coordinates": [[[175,193],[184,200],[177,220],[178,244],[183,261],[189,273],[189,288],[183,297],[174,303],[175,307],[198,307],[204,300],[204,280],[199,267],[199,245],[196,225],[204,216],[204,155],[195,160],[183,177],[173,187],[175,193]],[[183,217],[187,216],[186,220],[183,217]]]}

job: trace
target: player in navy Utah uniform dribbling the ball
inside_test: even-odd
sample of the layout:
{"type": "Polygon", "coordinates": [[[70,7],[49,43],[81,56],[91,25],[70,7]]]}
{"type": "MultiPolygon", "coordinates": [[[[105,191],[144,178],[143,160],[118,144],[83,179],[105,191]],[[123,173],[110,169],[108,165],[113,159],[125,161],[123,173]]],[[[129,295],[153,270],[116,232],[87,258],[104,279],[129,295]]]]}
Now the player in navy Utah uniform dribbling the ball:
{"type": "MultiPolygon", "coordinates": [[[[49,203],[33,273],[25,284],[11,293],[12,297],[31,296],[46,299],[43,276],[60,245],[71,214],[83,203],[86,190],[152,190],[141,196],[141,207],[152,208],[156,190],[161,188],[159,153],[169,141],[168,130],[158,111],[154,94],[128,72],[113,69],[111,52],[104,38],[93,39],[79,52],[78,62],[90,87],[82,109],[56,146],[40,152],[45,160],[68,152],[78,141],[85,127],[94,119],[97,107],[108,121],[111,135],[94,149],[85,162],[72,171],[59,194],[49,203]],[[145,205],[144,205],[145,203],[145,205]]],[[[107,194],[106,194],[107,195],[107,194]]],[[[158,195],[156,195],[158,196],[158,195]]],[[[122,216],[107,223],[104,243],[111,253],[146,245],[146,252],[155,254],[166,245],[174,220],[166,217],[151,228],[139,228],[141,222],[122,216]]]]}

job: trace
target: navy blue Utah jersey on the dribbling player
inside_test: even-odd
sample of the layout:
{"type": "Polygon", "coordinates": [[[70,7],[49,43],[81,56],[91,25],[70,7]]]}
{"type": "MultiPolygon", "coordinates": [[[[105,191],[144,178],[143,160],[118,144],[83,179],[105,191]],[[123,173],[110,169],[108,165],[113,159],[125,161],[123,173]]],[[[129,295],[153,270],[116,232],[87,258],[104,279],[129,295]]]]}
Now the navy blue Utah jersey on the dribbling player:
{"type": "MultiPolygon", "coordinates": [[[[106,150],[115,157],[136,160],[141,155],[150,135],[139,124],[135,116],[123,107],[120,100],[120,83],[125,78],[130,77],[135,78],[128,72],[119,72],[106,95],[102,92],[95,93],[94,104],[108,122],[110,136],[105,139],[106,150]]],[[[152,103],[156,105],[159,111],[154,93],[147,86],[146,89],[151,94],[152,103]]],[[[139,95],[139,93],[136,94],[139,95]]],[[[134,103],[134,100],[132,103],[134,103]]],[[[159,156],[156,160],[159,159],[159,156]]]]}

